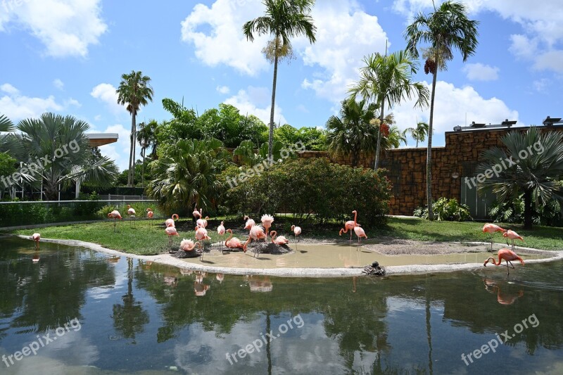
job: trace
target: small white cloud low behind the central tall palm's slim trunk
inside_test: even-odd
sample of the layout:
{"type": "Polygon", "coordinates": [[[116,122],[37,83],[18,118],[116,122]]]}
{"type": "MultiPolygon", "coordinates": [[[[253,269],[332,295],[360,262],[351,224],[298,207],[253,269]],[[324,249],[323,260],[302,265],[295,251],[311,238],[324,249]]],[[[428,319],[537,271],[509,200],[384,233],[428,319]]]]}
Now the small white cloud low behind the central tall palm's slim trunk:
{"type": "MultiPolygon", "coordinates": [[[[241,115],[255,115],[268,125],[270,124],[270,110],[272,106],[267,101],[267,98],[270,97],[271,92],[265,87],[248,87],[246,90],[240,90],[236,95],[225,100],[224,103],[239,108],[241,115]],[[260,108],[259,106],[264,107],[260,108]]],[[[274,122],[284,125],[287,123],[287,120],[281,113],[281,108],[276,105],[274,108],[274,122]]]]}

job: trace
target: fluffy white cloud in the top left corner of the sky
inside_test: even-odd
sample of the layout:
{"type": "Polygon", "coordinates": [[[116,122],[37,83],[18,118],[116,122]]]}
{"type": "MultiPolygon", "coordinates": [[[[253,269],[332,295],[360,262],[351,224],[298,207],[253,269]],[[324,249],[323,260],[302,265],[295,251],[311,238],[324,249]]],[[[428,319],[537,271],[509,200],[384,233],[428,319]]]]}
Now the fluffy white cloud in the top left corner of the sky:
{"type": "Polygon", "coordinates": [[[6,26],[27,30],[54,57],[88,54],[107,25],[101,19],[101,0],[20,0],[3,2],[0,32],[6,26]],[[6,10],[6,7],[9,8],[6,10]]]}

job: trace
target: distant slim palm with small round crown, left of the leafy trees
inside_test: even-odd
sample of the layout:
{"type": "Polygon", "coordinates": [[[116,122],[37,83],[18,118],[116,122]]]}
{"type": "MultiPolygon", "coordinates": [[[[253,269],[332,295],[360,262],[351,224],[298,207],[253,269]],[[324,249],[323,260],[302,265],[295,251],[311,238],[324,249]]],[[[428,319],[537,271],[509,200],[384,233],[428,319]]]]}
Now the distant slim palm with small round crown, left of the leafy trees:
{"type": "Polygon", "coordinates": [[[123,74],[118,89],[118,103],[127,104],[127,111],[131,113],[131,149],[129,151],[129,174],[127,186],[134,185],[135,177],[135,145],[137,144],[137,113],[141,106],[146,106],[148,101],[153,101],[153,88],[150,85],[151,78],[139,72],[131,71],[131,74],[123,74]]]}

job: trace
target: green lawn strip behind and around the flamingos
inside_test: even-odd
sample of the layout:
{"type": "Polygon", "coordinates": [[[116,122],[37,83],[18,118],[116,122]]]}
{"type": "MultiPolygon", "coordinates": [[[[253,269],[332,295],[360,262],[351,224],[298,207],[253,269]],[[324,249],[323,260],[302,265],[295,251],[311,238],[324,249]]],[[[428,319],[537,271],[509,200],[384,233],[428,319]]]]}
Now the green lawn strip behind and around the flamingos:
{"type": "MultiPolygon", "coordinates": [[[[223,220],[223,219],[222,219],[223,220]]],[[[212,242],[220,241],[216,228],[220,220],[209,220],[208,235],[212,242]]],[[[225,227],[235,229],[240,239],[245,239],[241,220],[225,220],[225,227]],[[237,231],[238,229],[238,231],[237,231]]],[[[277,218],[274,227],[279,234],[291,238],[289,227],[291,222],[284,217],[277,218]],[[277,224],[277,225],[276,225],[277,224]]],[[[517,241],[521,246],[539,248],[544,250],[563,250],[563,230],[553,227],[534,227],[524,230],[520,225],[502,224],[501,227],[513,229],[524,237],[524,243],[517,241]]],[[[179,220],[176,225],[179,237],[174,237],[177,247],[182,238],[194,239],[194,224],[191,220],[179,220]]],[[[346,239],[347,235],[338,236],[342,225],[329,224],[326,226],[302,226],[304,237],[315,239],[346,239]]],[[[388,225],[377,229],[367,229],[369,239],[377,241],[381,237],[395,239],[408,239],[415,241],[489,241],[489,234],[483,234],[481,222],[429,222],[421,219],[407,219],[390,217],[388,225]]],[[[273,229],[273,228],[272,228],[273,229]]],[[[117,233],[113,233],[113,222],[104,221],[92,224],[73,224],[61,227],[46,227],[39,229],[45,239],[73,239],[98,243],[99,245],[120,250],[125,253],[137,255],[155,255],[165,253],[168,248],[168,239],[164,233],[162,220],[138,220],[132,227],[128,219],[118,222],[117,233]],[[158,224],[157,224],[158,223],[158,224]]],[[[32,230],[13,231],[13,234],[31,235],[32,230]]],[[[226,238],[226,237],[225,237],[226,238]]],[[[494,241],[502,243],[505,239],[500,234],[495,234],[494,241]]]]}

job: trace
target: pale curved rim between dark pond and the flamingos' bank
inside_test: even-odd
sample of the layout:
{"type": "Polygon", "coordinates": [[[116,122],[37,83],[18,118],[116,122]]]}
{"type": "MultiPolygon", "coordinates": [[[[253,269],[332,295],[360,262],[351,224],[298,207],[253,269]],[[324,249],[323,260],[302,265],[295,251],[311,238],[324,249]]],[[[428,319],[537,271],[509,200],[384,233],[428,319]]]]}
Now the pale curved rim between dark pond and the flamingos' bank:
{"type": "MultiPolygon", "coordinates": [[[[20,239],[29,239],[31,236],[18,235],[20,239]]],[[[83,248],[88,248],[90,250],[99,251],[101,253],[106,253],[110,255],[120,255],[124,257],[129,257],[133,259],[147,260],[150,262],[157,262],[163,265],[170,265],[182,269],[192,269],[194,271],[203,271],[210,273],[219,274],[235,274],[235,275],[264,275],[264,276],[278,276],[278,277],[350,277],[350,276],[363,276],[362,268],[269,268],[269,269],[255,269],[255,268],[230,268],[230,267],[214,267],[207,265],[194,265],[192,263],[188,264],[181,259],[174,258],[169,254],[161,255],[135,255],[122,253],[117,250],[111,250],[108,248],[103,248],[96,243],[77,241],[77,240],[58,240],[58,239],[42,239],[41,241],[51,242],[51,243],[61,243],[68,246],[80,246],[83,248]],[[189,266],[189,267],[188,267],[189,266]]],[[[457,242],[450,242],[457,243],[457,242]]],[[[472,244],[488,244],[489,242],[466,242],[472,244]]],[[[327,244],[330,244],[327,242],[327,244]]],[[[563,250],[538,250],[534,248],[522,248],[518,247],[519,250],[524,250],[529,254],[539,254],[539,255],[553,255],[551,258],[545,259],[531,259],[526,260],[526,263],[542,263],[542,262],[553,262],[555,260],[563,260],[563,250]]],[[[434,272],[453,272],[463,269],[477,269],[483,268],[483,263],[466,263],[460,265],[405,265],[405,266],[388,266],[385,267],[386,274],[397,275],[397,274],[427,274],[434,272]]],[[[494,269],[495,267],[489,267],[489,269],[494,269]]]]}

